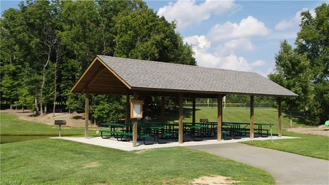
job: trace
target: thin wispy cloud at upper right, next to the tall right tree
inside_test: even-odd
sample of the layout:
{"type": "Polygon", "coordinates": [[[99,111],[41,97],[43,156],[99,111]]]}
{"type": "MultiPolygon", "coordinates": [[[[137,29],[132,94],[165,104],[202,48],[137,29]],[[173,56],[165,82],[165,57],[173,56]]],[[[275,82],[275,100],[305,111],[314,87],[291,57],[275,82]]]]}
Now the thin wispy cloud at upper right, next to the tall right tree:
{"type": "Polygon", "coordinates": [[[280,21],[280,23],[276,24],[276,30],[282,31],[287,29],[292,29],[298,27],[300,25],[300,21],[302,21],[302,17],[300,14],[304,11],[310,11],[310,14],[315,17],[315,11],[310,10],[308,8],[303,8],[301,11],[297,12],[295,16],[289,20],[280,21]]]}

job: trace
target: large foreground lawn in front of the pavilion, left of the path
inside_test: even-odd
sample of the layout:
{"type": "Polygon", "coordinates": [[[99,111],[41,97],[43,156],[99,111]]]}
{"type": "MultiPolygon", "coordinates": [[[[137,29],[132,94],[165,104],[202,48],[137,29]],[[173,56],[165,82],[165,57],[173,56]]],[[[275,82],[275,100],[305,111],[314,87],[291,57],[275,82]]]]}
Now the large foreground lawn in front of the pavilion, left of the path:
{"type": "Polygon", "coordinates": [[[0,184],[188,184],[204,175],[275,183],[261,169],[184,147],[120,151],[41,139],[3,144],[0,153],[0,184]]]}

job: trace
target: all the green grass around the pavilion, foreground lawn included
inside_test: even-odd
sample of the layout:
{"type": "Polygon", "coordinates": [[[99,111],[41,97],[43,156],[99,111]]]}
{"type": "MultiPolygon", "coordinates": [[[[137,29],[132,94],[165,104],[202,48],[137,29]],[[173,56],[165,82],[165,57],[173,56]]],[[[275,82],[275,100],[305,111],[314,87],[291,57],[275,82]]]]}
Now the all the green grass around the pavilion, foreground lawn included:
{"type": "MultiPolygon", "coordinates": [[[[191,121],[190,112],[184,109],[185,122],[191,121]]],[[[196,116],[197,120],[215,121],[216,114],[215,108],[199,108],[196,116]]],[[[12,114],[0,115],[1,134],[12,137],[58,134],[55,126],[21,121],[12,114]]],[[[175,116],[167,118],[173,121],[175,116]]],[[[248,122],[249,110],[224,110],[223,120],[248,122]]],[[[274,109],[255,110],[255,121],[275,123],[274,133],[278,130],[274,109]]],[[[288,127],[287,116],[283,124],[288,127]]],[[[303,126],[295,120],[293,125],[303,126]]],[[[63,134],[82,135],[84,128],[64,127],[63,134]]],[[[291,132],[284,135],[300,138],[247,144],[329,160],[328,137],[291,132]]],[[[55,139],[6,143],[0,147],[0,184],[188,184],[204,175],[232,177],[238,184],[274,184],[273,177],[263,170],[184,147],[128,152],[55,139]]]]}

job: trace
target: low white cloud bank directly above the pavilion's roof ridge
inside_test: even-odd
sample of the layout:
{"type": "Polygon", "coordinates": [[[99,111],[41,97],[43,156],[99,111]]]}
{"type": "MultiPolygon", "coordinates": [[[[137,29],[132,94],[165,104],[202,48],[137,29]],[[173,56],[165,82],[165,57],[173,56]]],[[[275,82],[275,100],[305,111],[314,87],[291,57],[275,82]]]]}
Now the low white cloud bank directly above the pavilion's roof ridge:
{"type": "MultiPolygon", "coordinates": [[[[253,67],[263,66],[265,64],[265,61],[263,60],[257,60],[256,62],[249,63],[245,60],[245,58],[236,56],[234,53],[223,53],[220,51],[212,53],[208,51],[211,42],[206,38],[206,36],[190,36],[184,38],[184,42],[188,42],[189,45],[192,45],[193,51],[195,52],[194,57],[197,60],[198,66],[231,69],[236,71],[254,71],[253,67]]],[[[235,42],[237,41],[232,41],[232,43],[235,42]]],[[[235,45],[228,45],[236,48],[235,45]]]]}

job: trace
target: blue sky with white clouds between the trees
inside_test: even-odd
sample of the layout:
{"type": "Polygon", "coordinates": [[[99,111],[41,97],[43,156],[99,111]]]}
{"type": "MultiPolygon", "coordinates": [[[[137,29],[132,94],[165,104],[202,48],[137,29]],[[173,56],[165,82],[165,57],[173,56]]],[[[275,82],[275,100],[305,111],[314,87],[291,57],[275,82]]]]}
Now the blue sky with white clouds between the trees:
{"type": "MultiPolygon", "coordinates": [[[[1,12],[20,1],[1,1],[1,12]]],[[[175,20],[199,66],[271,73],[280,42],[295,41],[300,12],[328,1],[146,1],[175,20]]]]}

